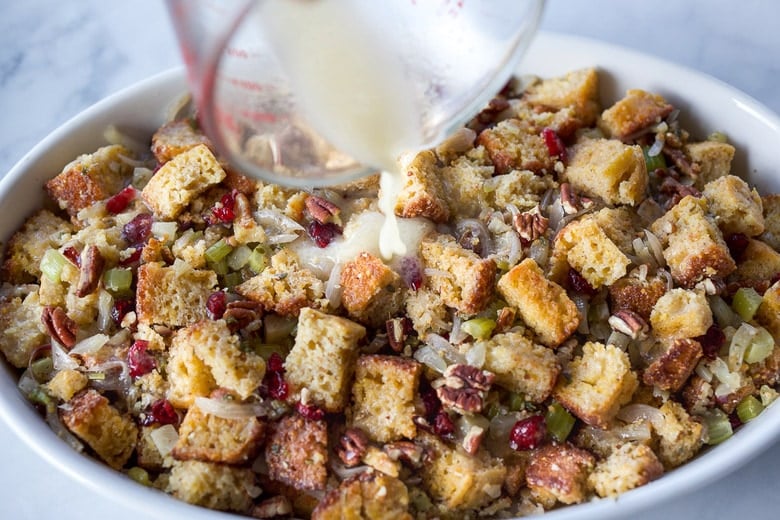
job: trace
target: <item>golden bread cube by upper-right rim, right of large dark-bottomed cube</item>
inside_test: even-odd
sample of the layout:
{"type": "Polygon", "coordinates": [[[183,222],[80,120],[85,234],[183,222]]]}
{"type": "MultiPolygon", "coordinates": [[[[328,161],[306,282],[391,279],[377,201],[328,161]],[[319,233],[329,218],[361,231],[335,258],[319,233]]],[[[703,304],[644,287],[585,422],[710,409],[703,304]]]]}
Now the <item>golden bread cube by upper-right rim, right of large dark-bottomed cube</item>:
{"type": "Polygon", "coordinates": [[[718,177],[704,186],[702,195],[724,235],[744,233],[752,237],[764,232],[761,196],[739,177],[718,177]]]}

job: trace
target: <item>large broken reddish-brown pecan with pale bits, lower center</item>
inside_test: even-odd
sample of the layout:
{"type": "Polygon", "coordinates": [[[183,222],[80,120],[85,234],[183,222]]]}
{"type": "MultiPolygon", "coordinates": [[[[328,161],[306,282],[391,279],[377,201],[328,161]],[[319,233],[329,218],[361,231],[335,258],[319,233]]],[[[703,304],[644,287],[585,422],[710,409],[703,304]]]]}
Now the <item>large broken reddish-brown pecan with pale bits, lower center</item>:
{"type": "Polygon", "coordinates": [[[495,374],[471,365],[450,365],[444,377],[432,383],[441,403],[459,413],[479,413],[495,374]]]}

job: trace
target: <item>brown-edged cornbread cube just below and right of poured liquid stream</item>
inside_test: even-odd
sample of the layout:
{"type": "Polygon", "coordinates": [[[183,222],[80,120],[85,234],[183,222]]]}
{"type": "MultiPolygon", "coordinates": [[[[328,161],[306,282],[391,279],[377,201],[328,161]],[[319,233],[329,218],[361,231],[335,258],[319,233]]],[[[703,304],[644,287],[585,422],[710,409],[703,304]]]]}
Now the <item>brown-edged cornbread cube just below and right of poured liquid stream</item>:
{"type": "Polygon", "coordinates": [[[476,314],[493,297],[496,263],[461,247],[446,234],[429,235],[420,244],[425,266],[433,270],[426,284],[463,314],[476,314]]]}

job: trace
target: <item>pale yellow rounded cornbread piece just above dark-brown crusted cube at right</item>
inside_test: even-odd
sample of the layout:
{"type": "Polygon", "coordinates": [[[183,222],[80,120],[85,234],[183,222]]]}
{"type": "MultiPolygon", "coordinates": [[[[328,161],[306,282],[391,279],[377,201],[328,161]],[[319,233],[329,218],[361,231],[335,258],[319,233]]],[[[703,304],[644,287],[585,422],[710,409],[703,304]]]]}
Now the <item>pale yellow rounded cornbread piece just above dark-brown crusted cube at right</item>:
{"type": "Polygon", "coordinates": [[[678,287],[658,299],[650,325],[659,338],[696,338],[712,325],[712,311],[703,292],[678,287]]]}

